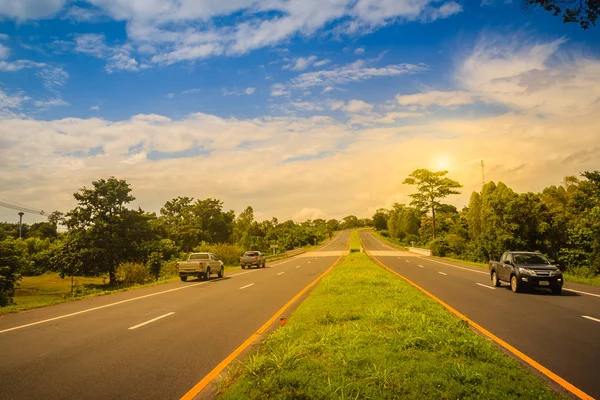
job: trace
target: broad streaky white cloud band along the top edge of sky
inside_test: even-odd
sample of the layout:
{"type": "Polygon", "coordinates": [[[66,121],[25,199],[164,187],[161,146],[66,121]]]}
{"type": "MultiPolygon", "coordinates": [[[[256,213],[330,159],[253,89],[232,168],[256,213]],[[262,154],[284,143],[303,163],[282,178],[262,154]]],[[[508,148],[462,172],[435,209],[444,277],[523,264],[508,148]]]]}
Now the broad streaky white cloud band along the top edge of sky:
{"type": "MultiPolygon", "coordinates": [[[[66,0],[13,1],[0,5],[0,15],[43,18],[54,15],[66,3],[66,0]]],[[[453,1],[438,0],[88,0],[88,3],[93,7],[73,5],[64,16],[90,21],[102,15],[123,21],[133,50],[154,54],[152,63],[166,65],[246,54],[280,45],[296,36],[310,37],[330,25],[335,29],[341,24],[341,30],[348,33],[366,33],[397,22],[445,18],[462,10],[453,1]],[[235,18],[223,18],[231,15],[235,18]],[[218,23],[216,18],[220,18],[218,23]],[[149,48],[155,52],[142,50],[149,48]]],[[[136,57],[131,52],[121,58],[125,56],[129,57],[128,62],[120,65],[134,70],[136,57]]],[[[297,70],[302,70],[302,65],[297,70]]]]}

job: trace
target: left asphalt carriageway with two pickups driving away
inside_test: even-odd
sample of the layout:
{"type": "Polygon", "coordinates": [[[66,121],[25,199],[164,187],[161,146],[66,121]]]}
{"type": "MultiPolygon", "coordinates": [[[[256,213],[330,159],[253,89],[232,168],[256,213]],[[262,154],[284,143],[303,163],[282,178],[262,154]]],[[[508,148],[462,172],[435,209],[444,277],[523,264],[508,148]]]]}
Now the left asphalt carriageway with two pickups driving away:
{"type": "Polygon", "coordinates": [[[179,399],[331,266],[320,251],[0,317],[0,399],[179,399]],[[48,321],[49,320],[49,321],[48,321]]]}

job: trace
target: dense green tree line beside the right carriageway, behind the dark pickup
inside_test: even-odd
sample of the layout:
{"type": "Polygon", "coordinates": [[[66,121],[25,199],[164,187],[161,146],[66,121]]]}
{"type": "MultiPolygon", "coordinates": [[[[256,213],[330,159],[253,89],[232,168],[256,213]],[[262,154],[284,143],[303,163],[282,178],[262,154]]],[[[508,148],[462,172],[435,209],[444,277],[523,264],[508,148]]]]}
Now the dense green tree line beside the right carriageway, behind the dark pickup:
{"type": "MultiPolygon", "coordinates": [[[[422,182],[446,173],[419,171],[422,182]]],[[[488,182],[460,211],[440,202],[449,193],[445,189],[460,186],[457,182],[438,180],[434,186],[428,193],[442,197],[429,195],[425,204],[420,190],[410,205],[377,210],[375,228],[407,245],[427,246],[434,255],[487,261],[506,250],[535,250],[572,273],[600,275],[600,171],[569,176],[540,193],[516,193],[502,182],[488,182]]]]}

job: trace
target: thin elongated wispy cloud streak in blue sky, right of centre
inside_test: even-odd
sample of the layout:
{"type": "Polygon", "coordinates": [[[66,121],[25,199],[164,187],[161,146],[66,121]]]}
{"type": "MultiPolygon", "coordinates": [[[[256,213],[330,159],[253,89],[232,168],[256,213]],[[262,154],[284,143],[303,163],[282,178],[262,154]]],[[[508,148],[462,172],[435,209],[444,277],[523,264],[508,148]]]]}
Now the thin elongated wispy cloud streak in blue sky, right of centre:
{"type": "Polygon", "coordinates": [[[305,72],[290,81],[294,88],[306,89],[314,86],[332,86],[350,82],[361,82],[375,77],[398,76],[413,74],[426,70],[425,65],[392,64],[382,68],[368,67],[365,62],[358,60],[352,64],[329,70],[305,72]]]}

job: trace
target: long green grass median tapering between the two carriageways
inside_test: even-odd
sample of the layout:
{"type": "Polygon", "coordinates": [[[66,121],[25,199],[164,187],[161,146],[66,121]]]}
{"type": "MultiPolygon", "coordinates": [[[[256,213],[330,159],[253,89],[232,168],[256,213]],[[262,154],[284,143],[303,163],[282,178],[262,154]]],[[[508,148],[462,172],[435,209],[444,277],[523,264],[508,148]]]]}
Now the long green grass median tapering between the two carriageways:
{"type": "Polygon", "coordinates": [[[351,253],[217,387],[226,400],[560,398],[364,253],[351,253]]]}

